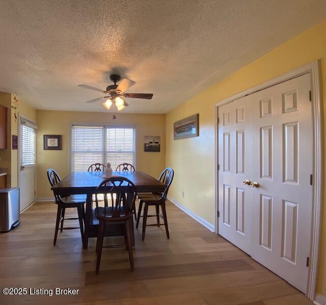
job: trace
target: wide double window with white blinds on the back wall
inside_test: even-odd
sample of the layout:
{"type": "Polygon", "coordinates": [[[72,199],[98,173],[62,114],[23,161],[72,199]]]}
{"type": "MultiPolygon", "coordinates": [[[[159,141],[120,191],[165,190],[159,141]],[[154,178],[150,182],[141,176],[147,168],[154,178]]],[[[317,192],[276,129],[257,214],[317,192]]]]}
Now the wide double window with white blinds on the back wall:
{"type": "Polygon", "coordinates": [[[72,125],[71,171],[87,171],[93,163],[135,166],[135,129],[117,126],[72,125]]]}

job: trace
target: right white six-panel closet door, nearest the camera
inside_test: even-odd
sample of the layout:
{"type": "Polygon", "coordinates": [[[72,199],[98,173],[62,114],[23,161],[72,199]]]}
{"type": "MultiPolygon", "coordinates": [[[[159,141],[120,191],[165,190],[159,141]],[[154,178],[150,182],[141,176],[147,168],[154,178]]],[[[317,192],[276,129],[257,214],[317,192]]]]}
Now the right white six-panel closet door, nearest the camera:
{"type": "Polygon", "coordinates": [[[310,74],[250,95],[252,257],[306,292],[312,215],[310,74]]]}

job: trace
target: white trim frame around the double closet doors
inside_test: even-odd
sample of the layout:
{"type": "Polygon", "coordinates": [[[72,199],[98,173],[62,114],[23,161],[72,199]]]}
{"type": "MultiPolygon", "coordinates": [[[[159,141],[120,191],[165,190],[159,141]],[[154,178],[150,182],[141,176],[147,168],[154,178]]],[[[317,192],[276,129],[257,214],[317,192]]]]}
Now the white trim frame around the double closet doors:
{"type": "Polygon", "coordinates": [[[257,91],[269,88],[280,84],[281,82],[287,81],[289,79],[301,76],[303,74],[309,73],[311,75],[311,93],[312,93],[312,144],[313,144],[313,160],[312,160],[312,170],[313,170],[313,185],[312,185],[312,227],[311,227],[311,246],[310,246],[310,263],[308,271],[308,281],[307,281],[307,293],[306,296],[310,300],[314,300],[316,292],[316,282],[317,282],[317,267],[318,267],[318,243],[320,235],[320,221],[321,221],[321,204],[322,204],[322,129],[321,129],[321,80],[320,80],[320,60],[313,61],[307,65],[299,67],[297,69],[291,70],[285,74],[278,77],[270,79],[263,82],[260,85],[254,86],[247,90],[241,91],[235,95],[232,95],[226,99],[220,100],[215,103],[214,106],[214,132],[215,132],[215,171],[214,171],[214,188],[215,188],[215,233],[218,234],[219,228],[219,202],[218,202],[218,160],[219,160],[219,136],[218,136],[218,115],[219,107],[225,104],[231,103],[236,99],[244,97],[249,94],[253,94],[257,91]]]}

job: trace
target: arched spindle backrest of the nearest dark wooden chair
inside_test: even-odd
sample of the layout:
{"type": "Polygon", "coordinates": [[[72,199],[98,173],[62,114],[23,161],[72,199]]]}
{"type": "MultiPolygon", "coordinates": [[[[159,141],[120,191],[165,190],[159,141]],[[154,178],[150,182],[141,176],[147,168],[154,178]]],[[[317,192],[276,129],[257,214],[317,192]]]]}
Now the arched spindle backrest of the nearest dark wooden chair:
{"type": "MultiPolygon", "coordinates": [[[[132,217],[137,190],[134,184],[124,177],[110,177],[100,183],[95,191],[95,215],[118,220],[132,217]],[[99,206],[98,195],[103,195],[104,207],[99,206]],[[99,213],[99,208],[103,213],[99,213]],[[101,214],[101,215],[99,215],[101,214]]],[[[101,199],[103,202],[103,200],[101,199]]]]}

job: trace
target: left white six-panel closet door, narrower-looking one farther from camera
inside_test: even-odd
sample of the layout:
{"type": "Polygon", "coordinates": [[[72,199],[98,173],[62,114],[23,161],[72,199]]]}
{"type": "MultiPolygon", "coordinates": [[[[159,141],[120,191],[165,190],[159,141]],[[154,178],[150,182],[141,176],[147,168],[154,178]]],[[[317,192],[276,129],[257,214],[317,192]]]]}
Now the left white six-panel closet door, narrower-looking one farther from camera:
{"type": "Polygon", "coordinates": [[[251,173],[250,98],[219,107],[219,234],[251,253],[251,192],[242,182],[251,173]]]}

